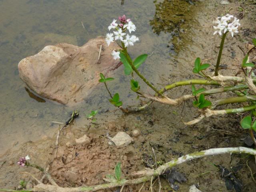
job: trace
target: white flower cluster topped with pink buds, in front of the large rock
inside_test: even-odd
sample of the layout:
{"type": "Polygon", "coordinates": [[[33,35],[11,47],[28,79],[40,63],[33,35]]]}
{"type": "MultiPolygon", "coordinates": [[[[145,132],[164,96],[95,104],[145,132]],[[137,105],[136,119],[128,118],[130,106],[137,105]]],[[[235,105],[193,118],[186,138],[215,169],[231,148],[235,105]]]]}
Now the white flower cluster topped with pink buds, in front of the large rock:
{"type": "MultiPolygon", "coordinates": [[[[106,34],[106,42],[108,46],[111,42],[114,42],[114,40],[120,40],[124,43],[125,47],[133,46],[136,41],[139,40],[138,37],[135,35],[130,36],[129,34],[126,34],[125,32],[128,30],[130,33],[136,30],[136,26],[133,24],[133,22],[130,19],[126,20],[126,16],[123,15],[122,17],[119,17],[118,20],[120,21],[120,24],[116,23],[116,20],[114,19],[112,23],[108,26],[108,30],[114,29],[113,33],[107,33],[106,34]]],[[[112,52],[112,56],[114,59],[119,59],[120,52],[114,51],[112,52]]]]}

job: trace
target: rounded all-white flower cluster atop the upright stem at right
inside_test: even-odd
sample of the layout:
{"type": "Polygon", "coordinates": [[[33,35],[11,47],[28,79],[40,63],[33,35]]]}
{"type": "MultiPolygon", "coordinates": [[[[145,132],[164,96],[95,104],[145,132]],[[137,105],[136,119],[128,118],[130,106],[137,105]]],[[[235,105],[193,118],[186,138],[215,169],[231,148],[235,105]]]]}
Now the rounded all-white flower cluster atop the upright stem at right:
{"type": "Polygon", "coordinates": [[[225,16],[216,18],[214,23],[218,25],[213,26],[213,28],[216,30],[213,34],[215,35],[216,33],[218,33],[220,36],[222,35],[222,32],[224,34],[229,31],[231,32],[231,36],[233,37],[234,33],[238,33],[238,27],[240,26],[239,19],[230,14],[226,14],[225,16]]]}

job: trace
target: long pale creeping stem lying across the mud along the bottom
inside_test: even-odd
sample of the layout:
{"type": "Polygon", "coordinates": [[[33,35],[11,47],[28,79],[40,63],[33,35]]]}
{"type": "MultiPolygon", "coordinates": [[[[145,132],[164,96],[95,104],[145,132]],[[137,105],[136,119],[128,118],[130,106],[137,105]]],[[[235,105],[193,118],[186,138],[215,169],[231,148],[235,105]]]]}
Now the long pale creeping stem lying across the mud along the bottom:
{"type": "MultiPolygon", "coordinates": [[[[134,185],[134,184],[140,184],[143,182],[147,182],[151,180],[152,176],[156,177],[161,174],[163,174],[167,169],[172,168],[173,166],[176,166],[178,164],[182,164],[184,162],[206,157],[206,156],[212,156],[212,155],[219,155],[219,154],[250,154],[256,156],[256,150],[246,147],[230,147],[230,148],[215,148],[215,149],[208,149],[200,152],[194,152],[191,154],[187,154],[185,156],[182,156],[178,159],[172,160],[170,162],[167,162],[163,164],[162,166],[159,166],[156,170],[153,169],[145,169],[142,171],[134,172],[131,174],[132,177],[140,177],[136,179],[122,179],[120,181],[115,181],[111,183],[105,183],[100,184],[96,186],[80,186],[80,187],[60,187],[60,186],[54,186],[49,184],[43,184],[39,183],[38,185],[34,186],[34,188],[27,190],[28,192],[93,192],[97,190],[102,189],[108,189],[108,188],[114,188],[118,186],[126,186],[126,185],[134,185]]],[[[10,191],[10,192],[16,192],[16,190],[8,190],[8,189],[0,189],[0,191],[10,191]]]]}

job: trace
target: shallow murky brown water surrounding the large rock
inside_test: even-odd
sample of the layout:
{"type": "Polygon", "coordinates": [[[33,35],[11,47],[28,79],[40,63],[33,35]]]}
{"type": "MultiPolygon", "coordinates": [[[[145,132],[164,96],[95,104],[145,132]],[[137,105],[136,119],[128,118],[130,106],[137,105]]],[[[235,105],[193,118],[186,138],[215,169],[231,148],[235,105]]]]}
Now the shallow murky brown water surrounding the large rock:
{"type": "MultiPolygon", "coordinates": [[[[140,42],[130,49],[132,56],[149,55],[141,68],[142,73],[156,85],[166,84],[163,81],[170,78],[170,71],[184,75],[174,62],[177,47],[172,44],[172,39],[184,30],[179,26],[190,20],[194,14],[190,10],[193,6],[179,0],[173,1],[175,6],[170,6],[165,0],[161,1],[163,4],[125,0],[123,6],[121,2],[0,0],[0,154],[23,142],[53,136],[58,126],[52,126],[51,121],[65,122],[74,110],[49,100],[38,102],[19,78],[18,62],[46,45],[67,42],[82,46],[90,38],[104,36],[112,19],[126,14],[136,24],[135,34],[140,38],[140,42]]],[[[136,96],[126,88],[129,79],[123,75],[122,67],[117,70],[115,78],[116,83],[110,84],[110,89],[120,93],[125,105],[134,104],[136,96]]],[[[104,112],[114,110],[114,107],[108,103],[106,90],[100,85],[76,109],[80,110],[81,116],[76,121],[77,126],[83,127],[86,124],[84,114],[90,110],[104,112]]],[[[108,114],[101,118],[115,120],[116,116],[108,114]]]]}

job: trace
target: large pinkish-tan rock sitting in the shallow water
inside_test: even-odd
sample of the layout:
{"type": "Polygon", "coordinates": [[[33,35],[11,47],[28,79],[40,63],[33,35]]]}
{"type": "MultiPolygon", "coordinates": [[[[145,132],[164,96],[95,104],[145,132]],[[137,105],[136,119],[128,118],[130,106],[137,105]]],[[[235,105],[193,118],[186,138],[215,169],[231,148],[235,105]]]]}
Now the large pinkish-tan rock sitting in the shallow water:
{"type": "Polygon", "coordinates": [[[62,104],[82,101],[105,76],[120,66],[112,58],[116,43],[106,44],[104,37],[89,40],[82,47],[60,43],[46,46],[18,64],[20,78],[37,94],[62,104]],[[102,45],[98,60],[100,45],[102,45]]]}

